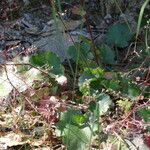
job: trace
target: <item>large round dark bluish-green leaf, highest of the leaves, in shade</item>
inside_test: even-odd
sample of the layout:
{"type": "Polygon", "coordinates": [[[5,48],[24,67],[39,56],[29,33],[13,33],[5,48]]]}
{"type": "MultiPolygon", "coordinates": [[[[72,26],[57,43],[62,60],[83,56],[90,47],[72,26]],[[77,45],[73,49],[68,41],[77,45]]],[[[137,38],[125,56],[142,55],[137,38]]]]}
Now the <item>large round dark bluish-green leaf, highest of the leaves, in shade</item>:
{"type": "Polygon", "coordinates": [[[126,47],[131,40],[132,34],[125,23],[117,23],[111,26],[107,33],[107,44],[117,47],[126,47]]]}

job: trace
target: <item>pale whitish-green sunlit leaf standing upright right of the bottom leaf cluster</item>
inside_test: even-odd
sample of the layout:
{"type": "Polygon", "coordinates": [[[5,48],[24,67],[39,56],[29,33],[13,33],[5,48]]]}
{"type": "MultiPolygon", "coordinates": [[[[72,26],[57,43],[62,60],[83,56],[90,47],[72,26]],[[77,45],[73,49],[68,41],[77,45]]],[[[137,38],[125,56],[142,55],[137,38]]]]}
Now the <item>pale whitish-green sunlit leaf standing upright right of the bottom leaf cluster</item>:
{"type": "Polygon", "coordinates": [[[110,96],[104,93],[98,95],[97,101],[98,101],[99,115],[103,115],[104,113],[106,113],[110,105],[112,104],[110,96]]]}

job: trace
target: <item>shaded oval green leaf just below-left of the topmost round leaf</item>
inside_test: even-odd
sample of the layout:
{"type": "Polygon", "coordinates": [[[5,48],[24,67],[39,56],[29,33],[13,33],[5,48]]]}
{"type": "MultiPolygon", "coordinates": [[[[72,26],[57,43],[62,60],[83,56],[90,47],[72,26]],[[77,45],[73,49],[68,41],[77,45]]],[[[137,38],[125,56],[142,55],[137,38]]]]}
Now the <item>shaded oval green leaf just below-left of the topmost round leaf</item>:
{"type": "Polygon", "coordinates": [[[99,50],[105,64],[115,64],[115,53],[109,46],[102,45],[99,50]]]}

